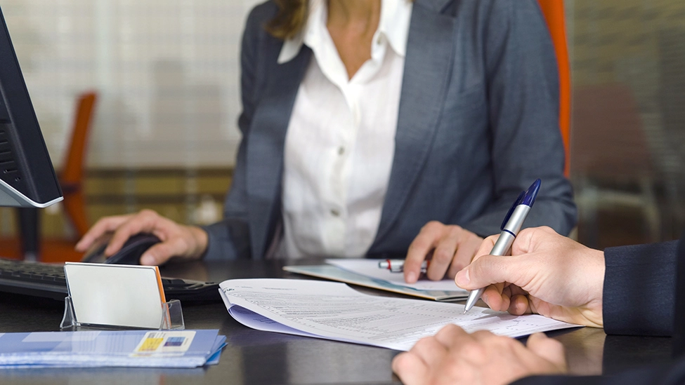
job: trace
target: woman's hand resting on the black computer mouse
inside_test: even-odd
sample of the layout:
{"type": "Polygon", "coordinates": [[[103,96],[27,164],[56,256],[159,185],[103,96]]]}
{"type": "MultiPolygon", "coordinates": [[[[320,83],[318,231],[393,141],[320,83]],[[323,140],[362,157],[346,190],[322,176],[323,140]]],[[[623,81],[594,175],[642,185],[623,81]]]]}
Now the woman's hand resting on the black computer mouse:
{"type": "Polygon", "coordinates": [[[207,250],[207,233],[200,227],[178,224],[152,210],[101,218],[77,243],[76,250],[85,252],[100,236],[111,232],[114,234],[105,248],[107,257],[119,251],[130,236],[138,233],[155,234],[162,241],[141,255],[141,264],[164,264],[171,257],[200,259],[207,250]]]}

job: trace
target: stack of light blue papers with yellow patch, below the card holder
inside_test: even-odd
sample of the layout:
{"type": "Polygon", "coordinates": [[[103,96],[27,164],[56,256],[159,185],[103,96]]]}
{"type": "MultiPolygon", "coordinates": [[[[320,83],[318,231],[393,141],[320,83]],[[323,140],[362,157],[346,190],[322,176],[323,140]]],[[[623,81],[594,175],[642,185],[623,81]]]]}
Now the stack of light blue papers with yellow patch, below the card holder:
{"type": "Polygon", "coordinates": [[[218,363],[218,330],[0,333],[0,368],[200,367],[218,363]]]}

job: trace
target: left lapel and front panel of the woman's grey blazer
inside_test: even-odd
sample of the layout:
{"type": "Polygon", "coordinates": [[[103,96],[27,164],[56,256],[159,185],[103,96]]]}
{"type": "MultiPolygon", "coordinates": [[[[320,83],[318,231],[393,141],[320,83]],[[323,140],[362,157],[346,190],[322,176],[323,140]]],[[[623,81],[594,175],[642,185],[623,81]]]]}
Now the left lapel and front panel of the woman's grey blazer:
{"type": "Polygon", "coordinates": [[[269,65],[259,74],[268,81],[246,138],[249,230],[252,256],[256,259],[263,257],[280,219],[285,133],[311,58],[311,50],[302,46],[294,59],[278,65],[282,44],[274,39],[272,45],[266,59],[269,65]]]}

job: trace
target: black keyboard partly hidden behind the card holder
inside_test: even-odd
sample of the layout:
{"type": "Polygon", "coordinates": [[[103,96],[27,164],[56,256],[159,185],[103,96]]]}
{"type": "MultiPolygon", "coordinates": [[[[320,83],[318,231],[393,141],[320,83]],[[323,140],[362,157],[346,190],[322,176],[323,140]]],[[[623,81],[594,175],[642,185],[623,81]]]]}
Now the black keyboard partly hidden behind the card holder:
{"type": "MultiPolygon", "coordinates": [[[[221,301],[218,284],[181,278],[164,278],[164,296],[185,302],[221,301]]],[[[64,266],[0,258],[0,292],[64,300],[67,280],[64,266]]]]}

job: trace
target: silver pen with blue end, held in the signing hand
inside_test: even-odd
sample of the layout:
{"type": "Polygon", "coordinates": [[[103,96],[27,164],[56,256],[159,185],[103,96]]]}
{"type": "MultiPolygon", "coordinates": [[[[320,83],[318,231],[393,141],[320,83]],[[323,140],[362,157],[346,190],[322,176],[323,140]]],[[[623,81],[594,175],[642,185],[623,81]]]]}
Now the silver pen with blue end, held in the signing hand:
{"type": "MultiPolygon", "coordinates": [[[[518,194],[516,202],[514,202],[514,205],[512,205],[509,212],[507,212],[507,216],[504,217],[500,238],[497,238],[497,242],[495,242],[495,246],[492,247],[490,255],[506,255],[507,252],[509,252],[511,244],[514,243],[518,231],[521,230],[521,227],[523,226],[523,221],[526,220],[530,208],[532,208],[533,203],[535,203],[537,191],[540,191],[539,179],[535,180],[526,191],[521,191],[521,194],[518,194]]],[[[464,313],[474,307],[474,304],[476,304],[476,301],[481,297],[484,290],[485,288],[481,288],[469,293],[467,304],[464,306],[464,313]]]]}

